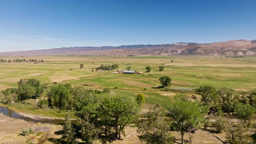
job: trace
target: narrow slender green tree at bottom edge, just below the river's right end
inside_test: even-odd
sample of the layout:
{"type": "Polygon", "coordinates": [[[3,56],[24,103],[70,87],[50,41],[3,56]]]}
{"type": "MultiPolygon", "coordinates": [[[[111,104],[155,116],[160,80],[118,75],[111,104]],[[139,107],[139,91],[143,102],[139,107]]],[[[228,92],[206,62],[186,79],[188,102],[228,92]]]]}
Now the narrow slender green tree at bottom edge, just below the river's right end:
{"type": "Polygon", "coordinates": [[[67,136],[67,138],[66,138],[67,143],[69,143],[69,144],[77,143],[76,138],[75,138],[75,129],[73,128],[69,114],[66,114],[66,116],[65,116],[63,131],[64,131],[65,135],[67,136]]]}

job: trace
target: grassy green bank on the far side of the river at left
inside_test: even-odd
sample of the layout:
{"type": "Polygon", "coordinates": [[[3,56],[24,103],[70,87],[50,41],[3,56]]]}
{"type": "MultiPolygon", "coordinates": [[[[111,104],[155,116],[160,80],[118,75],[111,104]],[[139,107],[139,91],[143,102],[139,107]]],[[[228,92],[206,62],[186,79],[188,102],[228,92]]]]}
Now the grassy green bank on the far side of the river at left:
{"type": "MultiPolygon", "coordinates": [[[[65,115],[67,112],[61,111],[60,113],[53,111],[51,109],[35,109],[28,105],[23,104],[0,104],[2,107],[6,107],[10,110],[15,111],[19,115],[23,117],[28,117],[35,120],[43,120],[43,119],[49,119],[49,120],[65,120],[65,115]]],[[[74,114],[71,113],[71,120],[76,120],[74,118],[74,114]]]]}

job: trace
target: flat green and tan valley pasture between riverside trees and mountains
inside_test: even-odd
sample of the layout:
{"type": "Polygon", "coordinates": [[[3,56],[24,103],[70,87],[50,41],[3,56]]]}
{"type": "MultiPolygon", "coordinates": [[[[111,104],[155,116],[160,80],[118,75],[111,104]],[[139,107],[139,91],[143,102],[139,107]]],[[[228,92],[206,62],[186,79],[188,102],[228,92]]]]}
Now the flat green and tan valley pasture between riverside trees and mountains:
{"type": "MultiPolygon", "coordinates": [[[[0,90],[17,87],[17,81],[36,78],[51,87],[53,82],[72,85],[88,84],[93,89],[110,88],[112,93],[135,95],[143,93],[147,103],[168,107],[184,95],[178,92],[164,92],[157,89],[161,76],[170,76],[170,87],[197,88],[211,85],[215,88],[228,87],[235,91],[249,91],[256,88],[256,57],[224,58],[214,56],[44,56],[4,57],[8,59],[43,59],[43,63],[0,63],[0,90]],[[173,60],[173,63],[171,63],[173,60]],[[93,64],[94,62],[94,64],[93,64]],[[113,74],[116,70],[96,71],[101,64],[119,64],[118,70],[131,66],[131,70],[144,74],[113,74]],[[164,63],[164,71],[158,67],[164,63]],[[80,69],[79,65],[84,64],[80,69]],[[70,70],[73,69],[73,70],[70,70]],[[92,70],[94,70],[92,72],[92,70]],[[114,89],[114,87],[117,87],[114,89]],[[143,90],[146,88],[146,90],[143,90]]],[[[185,93],[192,95],[192,93],[185,93]]]]}

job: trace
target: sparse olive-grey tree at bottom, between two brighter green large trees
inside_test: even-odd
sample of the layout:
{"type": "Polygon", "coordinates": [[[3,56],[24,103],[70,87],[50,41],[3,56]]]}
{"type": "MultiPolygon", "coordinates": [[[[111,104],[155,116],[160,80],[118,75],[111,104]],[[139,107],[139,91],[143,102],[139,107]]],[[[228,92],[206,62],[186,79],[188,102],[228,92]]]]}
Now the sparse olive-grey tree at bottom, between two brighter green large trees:
{"type": "Polygon", "coordinates": [[[164,122],[163,116],[165,112],[156,105],[146,114],[148,119],[139,123],[137,132],[141,142],[146,144],[172,144],[173,138],[167,135],[167,124],[164,122]]]}

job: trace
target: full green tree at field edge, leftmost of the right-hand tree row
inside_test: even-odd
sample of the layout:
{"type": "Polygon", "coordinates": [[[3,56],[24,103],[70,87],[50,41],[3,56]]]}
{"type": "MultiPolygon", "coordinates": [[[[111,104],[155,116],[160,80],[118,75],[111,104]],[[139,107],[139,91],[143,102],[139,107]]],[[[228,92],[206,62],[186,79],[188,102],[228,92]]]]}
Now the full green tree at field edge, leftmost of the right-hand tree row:
{"type": "Polygon", "coordinates": [[[202,97],[201,102],[204,105],[209,105],[217,97],[215,88],[208,85],[195,89],[195,92],[202,97]]]}

